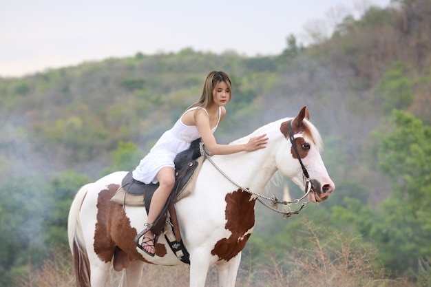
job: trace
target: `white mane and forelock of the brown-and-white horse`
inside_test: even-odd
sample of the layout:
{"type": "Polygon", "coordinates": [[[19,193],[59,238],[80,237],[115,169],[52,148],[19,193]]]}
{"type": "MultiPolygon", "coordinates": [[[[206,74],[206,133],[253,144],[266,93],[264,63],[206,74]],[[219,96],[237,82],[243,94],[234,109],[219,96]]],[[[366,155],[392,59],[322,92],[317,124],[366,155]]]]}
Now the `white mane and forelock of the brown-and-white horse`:
{"type": "MultiPolygon", "coordinates": [[[[282,118],[280,120],[275,120],[275,122],[266,124],[256,129],[248,136],[244,136],[242,138],[239,138],[238,140],[234,140],[233,142],[231,142],[231,144],[242,144],[248,142],[249,138],[260,134],[268,134],[269,138],[271,138],[271,136],[282,136],[282,133],[280,132],[280,125],[286,120],[293,120],[293,118],[282,118]],[[276,129],[273,131],[274,128],[276,129]],[[271,131],[275,132],[275,134],[269,134],[271,131]]],[[[322,136],[320,136],[319,134],[319,131],[317,131],[317,128],[315,127],[315,125],[313,125],[313,123],[311,123],[309,120],[306,120],[305,118],[303,123],[306,126],[306,136],[310,137],[313,140],[317,149],[321,152],[323,150],[323,140],[322,136]]]]}

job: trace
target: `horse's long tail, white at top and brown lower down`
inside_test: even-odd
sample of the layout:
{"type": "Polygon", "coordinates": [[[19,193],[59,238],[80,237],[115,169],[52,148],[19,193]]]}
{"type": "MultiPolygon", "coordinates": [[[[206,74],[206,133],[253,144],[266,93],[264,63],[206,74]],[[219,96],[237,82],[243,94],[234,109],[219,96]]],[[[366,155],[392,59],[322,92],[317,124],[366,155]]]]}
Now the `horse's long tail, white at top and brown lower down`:
{"type": "Polygon", "coordinates": [[[85,240],[79,220],[79,211],[81,211],[81,204],[91,185],[91,183],[85,184],[76,193],[72,206],[70,206],[67,222],[67,237],[69,239],[70,251],[72,251],[77,287],[90,287],[90,262],[85,250],[85,240]]]}

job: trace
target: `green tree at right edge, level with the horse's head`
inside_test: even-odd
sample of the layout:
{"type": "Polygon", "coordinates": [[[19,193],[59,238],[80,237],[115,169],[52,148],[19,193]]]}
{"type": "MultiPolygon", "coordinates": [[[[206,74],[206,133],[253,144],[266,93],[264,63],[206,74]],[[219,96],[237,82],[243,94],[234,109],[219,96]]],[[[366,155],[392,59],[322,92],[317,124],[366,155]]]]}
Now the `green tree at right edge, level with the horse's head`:
{"type": "Polygon", "coordinates": [[[405,111],[392,116],[395,129],[380,136],[379,167],[395,195],[425,207],[425,199],[431,199],[431,127],[405,111]]]}

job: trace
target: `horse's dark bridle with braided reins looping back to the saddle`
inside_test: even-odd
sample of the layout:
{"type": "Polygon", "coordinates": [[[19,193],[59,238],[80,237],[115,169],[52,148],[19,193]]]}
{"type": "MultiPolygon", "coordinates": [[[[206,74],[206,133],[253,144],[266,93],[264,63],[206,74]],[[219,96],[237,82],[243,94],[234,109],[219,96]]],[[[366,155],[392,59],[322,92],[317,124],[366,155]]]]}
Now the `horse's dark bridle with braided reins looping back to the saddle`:
{"type": "Polygon", "coordinates": [[[262,203],[264,206],[266,206],[267,208],[271,209],[272,211],[275,211],[277,213],[281,213],[283,215],[283,217],[285,219],[290,218],[292,215],[294,214],[299,214],[300,211],[302,211],[302,209],[304,209],[305,206],[307,206],[308,201],[307,202],[302,202],[301,206],[299,207],[299,209],[297,209],[296,211],[291,211],[290,207],[286,207],[284,210],[279,210],[278,209],[278,204],[299,204],[299,202],[301,202],[301,200],[303,200],[304,198],[306,198],[306,196],[308,195],[308,193],[310,193],[311,191],[311,187],[313,184],[311,184],[311,179],[310,176],[308,176],[308,171],[306,170],[304,164],[302,163],[301,158],[299,157],[299,152],[298,149],[296,147],[296,143],[295,143],[295,137],[293,136],[293,128],[292,128],[292,120],[289,122],[289,139],[291,140],[291,144],[293,149],[295,150],[295,154],[297,159],[299,160],[299,164],[301,164],[301,168],[302,168],[302,177],[304,178],[304,185],[305,185],[305,190],[306,193],[302,196],[302,198],[298,198],[293,200],[293,202],[289,202],[289,201],[284,201],[284,200],[279,200],[275,194],[273,195],[272,198],[268,198],[264,195],[261,195],[260,193],[255,193],[253,191],[251,191],[250,189],[246,189],[244,187],[241,187],[240,184],[238,184],[237,182],[233,181],[231,178],[229,178],[229,176],[227,176],[226,173],[224,173],[224,171],[222,171],[216,164],[215,162],[213,162],[213,160],[211,159],[211,156],[213,156],[209,150],[207,149],[207,147],[204,146],[203,142],[200,142],[200,154],[202,156],[204,156],[207,160],[209,160],[209,162],[211,162],[211,164],[213,164],[213,167],[215,167],[215,169],[217,169],[222,176],[224,176],[224,178],[226,178],[227,180],[229,180],[229,182],[231,182],[233,185],[235,185],[236,187],[240,188],[242,191],[246,191],[247,193],[250,193],[252,195],[255,195],[257,197],[257,201],[262,203]],[[263,202],[263,200],[267,200],[269,202],[271,202],[271,206],[269,204],[266,204],[265,202],[263,202]]]}

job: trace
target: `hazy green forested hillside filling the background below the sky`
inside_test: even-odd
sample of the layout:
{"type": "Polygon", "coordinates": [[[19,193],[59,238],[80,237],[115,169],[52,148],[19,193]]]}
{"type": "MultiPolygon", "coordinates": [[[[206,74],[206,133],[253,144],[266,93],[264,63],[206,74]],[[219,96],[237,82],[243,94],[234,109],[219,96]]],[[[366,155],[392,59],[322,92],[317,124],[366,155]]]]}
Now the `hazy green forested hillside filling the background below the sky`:
{"type": "MultiPolygon", "coordinates": [[[[321,258],[345,255],[353,262],[345,270],[370,271],[346,271],[353,283],[337,286],[391,286],[359,281],[400,278],[392,286],[431,286],[431,1],[370,6],[359,19],[346,15],[330,35],[314,32],[307,46],[286,36],[276,56],[185,48],[0,78],[0,285],[42,280],[37,266],[67,253],[67,213],[79,187],[134,169],[197,100],[208,72],[223,70],[233,91],[218,142],[307,106],[337,186],[287,221],[257,205],[244,250],[251,262],[244,258],[240,273],[279,262],[282,286],[302,286],[286,274],[312,271],[288,256],[314,262],[306,251],[320,244],[327,247],[321,258]],[[304,240],[310,231],[313,240],[304,240]],[[343,253],[346,242],[357,253],[343,253]],[[362,265],[361,252],[371,256],[362,265]]],[[[288,184],[292,197],[300,194],[281,181],[265,192],[280,198],[288,184]]]]}

